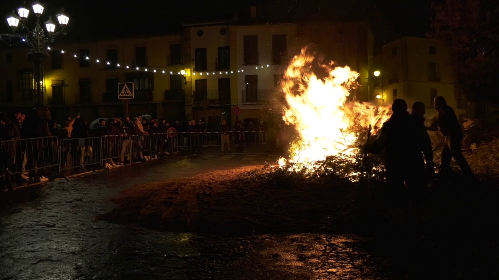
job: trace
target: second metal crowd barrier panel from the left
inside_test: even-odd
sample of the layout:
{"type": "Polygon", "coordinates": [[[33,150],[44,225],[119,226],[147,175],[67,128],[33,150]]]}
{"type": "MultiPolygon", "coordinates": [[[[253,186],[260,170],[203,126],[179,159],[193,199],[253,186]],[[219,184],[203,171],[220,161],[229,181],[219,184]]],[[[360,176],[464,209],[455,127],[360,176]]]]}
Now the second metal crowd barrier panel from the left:
{"type": "Polygon", "coordinates": [[[98,137],[61,139],[59,162],[60,174],[65,176],[85,172],[90,165],[100,166],[100,139],[98,137]]]}

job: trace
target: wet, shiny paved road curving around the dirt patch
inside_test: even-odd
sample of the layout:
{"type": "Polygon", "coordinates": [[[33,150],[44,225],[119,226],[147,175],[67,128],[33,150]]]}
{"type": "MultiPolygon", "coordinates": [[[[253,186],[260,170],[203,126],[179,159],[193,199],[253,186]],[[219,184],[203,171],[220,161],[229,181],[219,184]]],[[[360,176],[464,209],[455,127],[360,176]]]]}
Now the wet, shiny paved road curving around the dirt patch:
{"type": "Polygon", "coordinates": [[[96,216],[137,183],[274,162],[278,155],[162,158],[19,189],[0,212],[0,279],[382,279],[358,236],[296,233],[239,238],[168,233],[96,216]]]}

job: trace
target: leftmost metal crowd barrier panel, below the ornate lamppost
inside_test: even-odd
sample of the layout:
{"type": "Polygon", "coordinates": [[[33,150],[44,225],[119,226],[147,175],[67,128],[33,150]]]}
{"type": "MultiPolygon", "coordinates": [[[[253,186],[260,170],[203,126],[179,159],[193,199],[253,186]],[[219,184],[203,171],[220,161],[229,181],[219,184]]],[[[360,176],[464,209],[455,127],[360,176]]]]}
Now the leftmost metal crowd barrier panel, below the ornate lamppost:
{"type": "Polygon", "coordinates": [[[0,177],[7,174],[31,178],[45,176],[47,168],[58,165],[55,136],[0,142],[0,177]]]}

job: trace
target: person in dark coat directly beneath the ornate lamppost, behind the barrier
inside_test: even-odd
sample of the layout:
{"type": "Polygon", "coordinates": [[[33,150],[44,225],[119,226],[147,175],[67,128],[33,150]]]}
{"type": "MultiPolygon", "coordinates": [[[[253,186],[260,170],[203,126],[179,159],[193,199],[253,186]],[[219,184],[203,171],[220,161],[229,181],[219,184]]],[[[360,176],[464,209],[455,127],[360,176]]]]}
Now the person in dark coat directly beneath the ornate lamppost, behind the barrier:
{"type": "Polygon", "coordinates": [[[28,158],[28,168],[29,178],[33,181],[45,182],[48,181],[48,178],[43,176],[43,166],[44,162],[44,147],[48,147],[52,145],[50,137],[50,130],[48,129],[48,124],[43,120],[43,110],[34,109],[29,117],[26,118],[22,125],[21,137],[23,139],[30,138],[42,138],[42,139],[34,139],[34,140],[26,140],[26,153],[28,158]],[[37,170],[35,170],[35,165],[37,170]]]}

